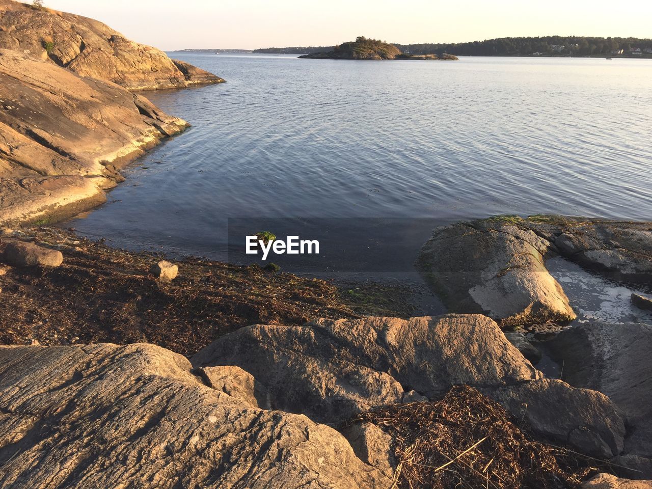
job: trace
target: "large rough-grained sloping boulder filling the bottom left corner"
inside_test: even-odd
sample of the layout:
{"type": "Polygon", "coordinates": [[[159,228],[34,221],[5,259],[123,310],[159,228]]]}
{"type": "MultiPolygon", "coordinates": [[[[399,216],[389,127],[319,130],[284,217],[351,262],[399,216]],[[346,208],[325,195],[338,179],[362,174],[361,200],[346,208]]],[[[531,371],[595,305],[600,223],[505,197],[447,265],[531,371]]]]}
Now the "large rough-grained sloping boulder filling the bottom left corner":
{"type": "Polygon", "coordinates": [[[338,432],[146,344],[0,347],[0,488],[388,488],[338,432]]]}

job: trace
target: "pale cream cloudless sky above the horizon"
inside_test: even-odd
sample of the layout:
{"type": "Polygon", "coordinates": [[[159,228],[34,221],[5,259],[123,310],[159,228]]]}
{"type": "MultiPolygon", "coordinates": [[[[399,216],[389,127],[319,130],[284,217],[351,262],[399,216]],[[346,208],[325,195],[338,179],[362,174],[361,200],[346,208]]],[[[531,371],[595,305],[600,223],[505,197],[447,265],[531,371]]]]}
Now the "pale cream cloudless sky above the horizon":
{"type": "MultiPolygon", "coordinates": [[[[31,0],[24,0],[31,1],[31,0]]],[[[652,37],[652,2],[612,0],[45,0],[162,50],[495,37],[652,37]]]]}

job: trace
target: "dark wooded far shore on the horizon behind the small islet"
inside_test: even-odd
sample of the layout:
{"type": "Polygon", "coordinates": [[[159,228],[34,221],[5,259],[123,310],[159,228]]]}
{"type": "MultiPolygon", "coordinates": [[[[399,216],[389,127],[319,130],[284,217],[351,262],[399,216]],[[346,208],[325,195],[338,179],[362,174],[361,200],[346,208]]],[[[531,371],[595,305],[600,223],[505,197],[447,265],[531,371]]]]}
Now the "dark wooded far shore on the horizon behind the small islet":
{"type": "MultiPolygon", "coordinates": [[[[502,37],[454,44],[394,44],[404,53],[450,53],[462,56],[602,56],[652,57],[652,39],[634,37],[502,37]],[[622,51],[621,51],[622,50],[622,51]]],[[[332,51],[333,46],[266,48],[255,53],[311,54],[332,51]]]]}

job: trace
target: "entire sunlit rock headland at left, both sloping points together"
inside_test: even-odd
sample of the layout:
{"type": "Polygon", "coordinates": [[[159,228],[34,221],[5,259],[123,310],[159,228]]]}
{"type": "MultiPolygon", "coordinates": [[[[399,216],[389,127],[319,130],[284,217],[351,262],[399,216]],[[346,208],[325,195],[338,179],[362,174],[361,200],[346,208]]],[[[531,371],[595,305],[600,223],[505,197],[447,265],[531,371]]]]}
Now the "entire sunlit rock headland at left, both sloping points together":
{"type": "Polygon", "coordinates": [[[0,226],[104,203],[121,168],[188,127],[132,91],[221,82],[95,20],[0,0],[0,226]]]}

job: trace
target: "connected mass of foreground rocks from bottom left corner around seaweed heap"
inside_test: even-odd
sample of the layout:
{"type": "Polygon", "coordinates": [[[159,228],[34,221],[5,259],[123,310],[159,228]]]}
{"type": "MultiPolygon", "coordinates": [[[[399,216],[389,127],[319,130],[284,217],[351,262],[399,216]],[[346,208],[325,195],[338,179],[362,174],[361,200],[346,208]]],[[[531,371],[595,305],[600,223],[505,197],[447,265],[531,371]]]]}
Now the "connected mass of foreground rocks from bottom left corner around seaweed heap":
{"type": "Polygon", "coordinates": [[[341,421],[452,384],[584,454],[629,456],[606,396],[543,378],[489,318],[319,319],[247,327],[192,361],[147,344],[0,347],[0,489],[387,488],[396,439],[341,421]]]}

